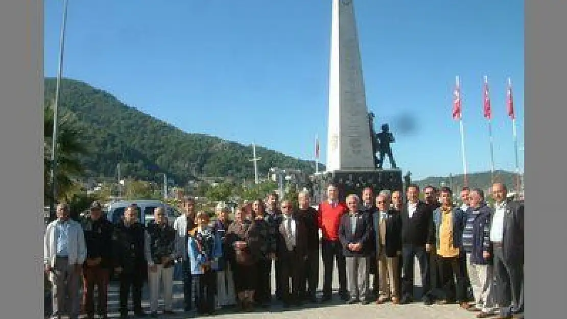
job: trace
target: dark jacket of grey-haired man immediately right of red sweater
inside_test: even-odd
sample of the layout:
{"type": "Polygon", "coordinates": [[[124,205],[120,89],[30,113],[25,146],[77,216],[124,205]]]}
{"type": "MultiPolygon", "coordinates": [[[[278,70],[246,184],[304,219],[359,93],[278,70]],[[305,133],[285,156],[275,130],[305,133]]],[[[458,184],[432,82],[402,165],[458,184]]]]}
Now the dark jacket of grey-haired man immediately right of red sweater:
{"type": "Polygon", "coordinates": [[[373,252],[372,232],[373,227],[370,217],[362,211],[357,212],[357,226],[354,234],[351,231],[350,212],[341,216],[338,226],[338,240],[341,242],[345,257],[371,256],[373,252]],[[362,248],[353,252],[347,248],[349,243],[361,243],[362,248]]]}

